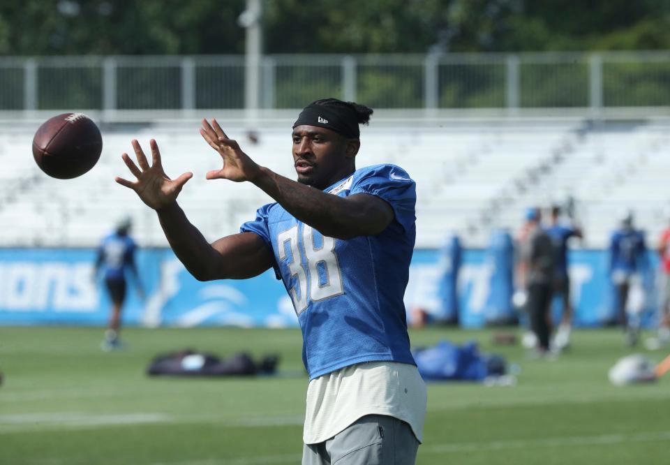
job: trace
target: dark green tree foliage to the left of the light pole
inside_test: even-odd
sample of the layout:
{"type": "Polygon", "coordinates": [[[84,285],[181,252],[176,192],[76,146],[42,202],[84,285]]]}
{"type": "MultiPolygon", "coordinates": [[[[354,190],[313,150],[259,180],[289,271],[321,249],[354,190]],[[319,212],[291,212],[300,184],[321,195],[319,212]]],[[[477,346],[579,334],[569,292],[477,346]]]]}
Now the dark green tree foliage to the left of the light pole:
{"type": "Polygon", "coordinates": [[[244,51],[244,0],[3,0],[0,54],[244,51]]]}

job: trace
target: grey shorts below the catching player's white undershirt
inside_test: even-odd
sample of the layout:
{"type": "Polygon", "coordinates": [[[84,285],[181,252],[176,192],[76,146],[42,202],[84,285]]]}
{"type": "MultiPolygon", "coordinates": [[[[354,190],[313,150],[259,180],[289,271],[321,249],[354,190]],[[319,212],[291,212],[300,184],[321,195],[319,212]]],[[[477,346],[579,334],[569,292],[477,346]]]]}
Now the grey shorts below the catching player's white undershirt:
{"type": "Polygon", "coordinates": [[[366,415],[327,441],[305,444],[302,465],[413,465],[418,448],[407,423],[366,415]]]}

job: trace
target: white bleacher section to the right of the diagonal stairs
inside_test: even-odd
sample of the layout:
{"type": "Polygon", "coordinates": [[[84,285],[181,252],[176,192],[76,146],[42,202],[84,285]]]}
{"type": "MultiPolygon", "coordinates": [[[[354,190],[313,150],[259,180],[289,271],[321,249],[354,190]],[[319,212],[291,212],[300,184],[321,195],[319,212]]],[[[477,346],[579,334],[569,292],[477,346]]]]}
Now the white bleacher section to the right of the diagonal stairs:
{"type": "Polygon", "coordinates": [[[500,212],[497,226],[514,228],[523,209],[574,200],[584,244],[600,248],[627,210],[653,243],[667,226],[670,193],[662,185],[669,139],[664,124],[613,124],[578,131],[571,145],[537,175],[533,186],[500,212]]]}

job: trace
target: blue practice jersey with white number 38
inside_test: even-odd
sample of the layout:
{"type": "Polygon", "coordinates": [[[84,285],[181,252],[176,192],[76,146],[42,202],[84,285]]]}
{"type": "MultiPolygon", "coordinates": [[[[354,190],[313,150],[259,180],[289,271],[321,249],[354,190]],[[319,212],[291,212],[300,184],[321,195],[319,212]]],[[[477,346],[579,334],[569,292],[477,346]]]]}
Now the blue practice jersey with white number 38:
{"type": "Polygon", "coordinates": [[[377,195],[393,207],[394,221],[379,235],[333,239],[271,203],[240,228],[273,251],[277,278],[298,316],[310,379],[361,362],[415,364],[403,303],[416,237],[415,182],[397,166],[374,165],[324,191],[377,195]]]}

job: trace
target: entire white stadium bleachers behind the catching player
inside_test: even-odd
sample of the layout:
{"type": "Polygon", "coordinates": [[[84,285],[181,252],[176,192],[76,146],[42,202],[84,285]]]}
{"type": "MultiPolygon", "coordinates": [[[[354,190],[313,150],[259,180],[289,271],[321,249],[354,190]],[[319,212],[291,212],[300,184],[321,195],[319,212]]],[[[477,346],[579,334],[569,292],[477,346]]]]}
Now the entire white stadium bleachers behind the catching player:
{"type": "MultiPolygon", "coordinates": [[[[260,133],[233,127],[258,163],[295,177],[287,125],[260,133]]],[[[193,171],[179,202],[208,239],[236,232],[255,209],[271,201],[251,184],[205,181],[221,159],[211,151],[196,124],[103,126],[103,154],[93,170],[71,179],[52,179],[33,161],[34,128],[0,128],[0,245],[93,246],[125,215],[143,246],[165,246],[154,214],[135,194],[114,183],[131,176],[121,161],[137,138],[161,147],[168,175],[193,171]],[[191,127],[192,126],[192,127],[191,127]]],[[[606,245],[623,209],[655,239],[667,223],[670,195],[668,127],[663,121],[588,124],[586,121],[482,121],[365,128],[358,166],[396,163],[417,181],[417,246],[440,246],[456,232],[467,246],[484,246],[493,228],[516,230],[530,205],[547,206],[572,198],[590,247],[606,245]]],[[[131,152],[132,156],[132,152],[131,152]]]]}

